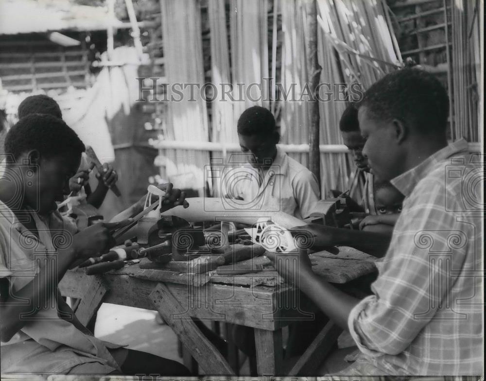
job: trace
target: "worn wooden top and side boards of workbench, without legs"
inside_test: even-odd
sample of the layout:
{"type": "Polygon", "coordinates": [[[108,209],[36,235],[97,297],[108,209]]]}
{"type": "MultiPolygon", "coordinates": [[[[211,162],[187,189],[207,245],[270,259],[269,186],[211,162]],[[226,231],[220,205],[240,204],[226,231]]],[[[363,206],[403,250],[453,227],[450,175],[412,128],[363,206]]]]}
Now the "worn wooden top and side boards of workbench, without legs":
{"type": "MultiPolygon", "coordinates": [[[[376,270],[376,258],[348,247],[340,247],[337,255],[319,251],[310,258],[314,272],[335,283],[347,283],[376,270]]],[[[265,256],[252,261],[255,264],[269,263],[265,256]]],[[[272,268],[259,273],[222,276],[214,270],[190,273],[140,268],[147,262],[144,259],[139,264],[95,276],[86,275],[83,269],[70,270],[59,288],[63,296],[83,299],[89,290],[98,290],[103,284],[110,290],[104,295],[104,302],[154,309],[151,293],[159,282],[169,287],[187,317],[222,320],[261,329],[278,329],[289,321],[311,316],[298,307],[299,290],[284,282],[272,268]]]]}

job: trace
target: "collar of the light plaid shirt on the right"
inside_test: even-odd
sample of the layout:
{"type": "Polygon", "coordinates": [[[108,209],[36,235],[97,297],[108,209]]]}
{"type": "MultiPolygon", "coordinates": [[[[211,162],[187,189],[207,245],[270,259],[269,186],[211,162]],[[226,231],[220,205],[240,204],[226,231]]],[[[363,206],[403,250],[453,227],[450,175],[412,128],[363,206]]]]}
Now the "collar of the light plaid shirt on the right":
{"type": "Polygon", "coordinates": [[[424,161],[416,167],[400,174],[392,179],[390,182],[397,188],[405,197],[408,197],[414,190],[417,183],[424,178],[431,168],[444,159],[456,155],[458,153],[468,152],[468,142],[465,139],[457,140],[448,146],[437,151],[433,155],[427,157],[424,161]]]}

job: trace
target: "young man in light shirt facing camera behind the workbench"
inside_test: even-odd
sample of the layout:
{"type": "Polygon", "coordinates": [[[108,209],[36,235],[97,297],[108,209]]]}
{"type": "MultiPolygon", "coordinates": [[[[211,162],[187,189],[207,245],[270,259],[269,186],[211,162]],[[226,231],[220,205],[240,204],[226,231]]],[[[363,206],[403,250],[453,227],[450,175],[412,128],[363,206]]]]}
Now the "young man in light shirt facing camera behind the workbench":
{"type": "Polygon", "coordinates": [[[272,113],[260,106],[246,109],[238,120],[238,138],[246,163],[227,167],[226,196],[247,201],[245,210],[309,217],[319,200],[317,180],[277,147],[280,134],[272,113]]]}

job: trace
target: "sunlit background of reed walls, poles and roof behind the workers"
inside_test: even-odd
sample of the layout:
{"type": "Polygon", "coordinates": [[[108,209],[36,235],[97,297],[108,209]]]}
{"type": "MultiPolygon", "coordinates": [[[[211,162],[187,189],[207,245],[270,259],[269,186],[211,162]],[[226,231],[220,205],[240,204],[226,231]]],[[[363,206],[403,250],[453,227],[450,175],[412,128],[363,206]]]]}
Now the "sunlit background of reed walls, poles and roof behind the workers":
{"type": "Polygon", "coordinates": [[[451,140],[464,137],[479,150],[482,7],[480,0],[0,0],[0,139],[22,99],[52,96],[120,175],[122,200],[110,193],[102,207],[109,218],[149,181],[221,194],[214,166],[239,151],[236,121],[259,104],[276,116],[282,149],[320,174],[324,198],[345,190],[353,174],[338,128],[351,84],[365,90],[407,63],[444,83],[451,140]],[[330,84],[320,94],[331,101],[310,102],[315,80],[330,84]],[[192,90],[192,101],[186,87],[180,102],[153,101],[170,98],[163,84],[176,83],[199,84],[202,94],[192,90]],[[148,88],[142,94],[140,84],[148,88]],[[237,84],[246,86],[242,95],[237,84]],[[294,99],[285,99],[289,89],[294,99]]]}

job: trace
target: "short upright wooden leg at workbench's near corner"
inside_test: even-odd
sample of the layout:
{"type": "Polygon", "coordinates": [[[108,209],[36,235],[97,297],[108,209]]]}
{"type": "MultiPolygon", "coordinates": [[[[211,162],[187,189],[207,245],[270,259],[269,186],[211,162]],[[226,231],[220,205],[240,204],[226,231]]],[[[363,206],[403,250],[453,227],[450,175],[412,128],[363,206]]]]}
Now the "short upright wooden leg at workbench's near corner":
{"type": "Polygon", "coordinates": [[[259,376],[281,375],[283,366],[282,329],[255,329],[259,376]]]}

